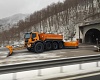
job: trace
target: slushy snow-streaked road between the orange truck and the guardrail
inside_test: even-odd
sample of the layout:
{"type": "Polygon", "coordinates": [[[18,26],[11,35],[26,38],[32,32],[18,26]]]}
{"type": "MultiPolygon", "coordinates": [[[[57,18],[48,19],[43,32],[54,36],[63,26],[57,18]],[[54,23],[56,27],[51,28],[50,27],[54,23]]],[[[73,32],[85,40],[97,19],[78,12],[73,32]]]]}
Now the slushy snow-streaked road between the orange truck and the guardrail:
{"type": "Polygon", "coordinates": [[[0,49],[0,65],[35,61],[35,60],[45,60],[54,58],[70,58],[78,56],[96,55],[100,52],[94,51],[94,45],[82,44],[78,49],[60,49],[45,51],[43,53],[33,53],[28,52],[26,49],[14,51],[13,55],[10,57],[5,57],[7,51],[5,49],[0,49]]]}

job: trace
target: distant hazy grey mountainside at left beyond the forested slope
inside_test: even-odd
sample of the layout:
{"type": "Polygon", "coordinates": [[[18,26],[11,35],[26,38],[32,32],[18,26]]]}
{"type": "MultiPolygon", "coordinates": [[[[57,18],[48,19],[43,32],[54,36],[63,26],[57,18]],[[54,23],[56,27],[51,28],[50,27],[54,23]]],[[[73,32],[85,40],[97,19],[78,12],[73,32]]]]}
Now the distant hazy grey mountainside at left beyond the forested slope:
{"type": "Polygon", "coordinates": [[[29,14],[15,14],[13,16],[0,19],[0,28],[2,28],[0,31],[8,30],[19,20],[24,20],[26,17],[28,17],[28,15],[29,14]]]}

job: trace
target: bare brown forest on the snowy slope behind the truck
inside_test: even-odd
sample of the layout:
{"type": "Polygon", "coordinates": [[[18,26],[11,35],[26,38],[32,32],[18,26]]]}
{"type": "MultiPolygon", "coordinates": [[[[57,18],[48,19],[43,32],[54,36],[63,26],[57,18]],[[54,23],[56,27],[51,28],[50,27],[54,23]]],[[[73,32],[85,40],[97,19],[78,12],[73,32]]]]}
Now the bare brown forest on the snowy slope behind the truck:
{"type": "Polygon", "coordinates": [[[52,3],[20,20],[10,30],[0,33],[0,44],[10,44],[24,38],[25,32],[37,31],[64,34],[68,39],[78,26],[100,18],[100,0],[65,0],[52,3]]]}

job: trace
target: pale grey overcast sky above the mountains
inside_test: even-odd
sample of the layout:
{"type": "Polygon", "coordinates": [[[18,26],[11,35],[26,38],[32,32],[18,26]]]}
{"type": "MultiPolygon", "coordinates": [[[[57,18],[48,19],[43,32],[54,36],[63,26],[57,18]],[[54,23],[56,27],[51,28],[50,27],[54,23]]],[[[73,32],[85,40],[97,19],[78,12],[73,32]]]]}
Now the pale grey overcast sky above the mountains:
{"type": "Polygon", "coordinates": [[[58,1],[64,0],[0,0],[0,19],[18,13],[30,14],[58,1]]]}

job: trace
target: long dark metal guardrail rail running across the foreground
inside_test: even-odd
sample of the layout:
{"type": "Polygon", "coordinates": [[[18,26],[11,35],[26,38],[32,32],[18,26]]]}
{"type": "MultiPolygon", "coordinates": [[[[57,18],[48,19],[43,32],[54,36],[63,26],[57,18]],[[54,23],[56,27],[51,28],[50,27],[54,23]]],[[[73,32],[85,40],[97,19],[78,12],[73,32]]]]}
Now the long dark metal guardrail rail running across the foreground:
{"type": "Polygon", "coordinates": [[[82,64],[82,63],[94,62],[98,60],[100,60],[100,55],[61,58],[61,59],[42,60],[42,61],[13,64],[13,65],[4,65],[4,66],[0,66],[0,74],[16,73],[21,71],[36,70],[36,69],[71,65],[71,64],[82,64]]]}

